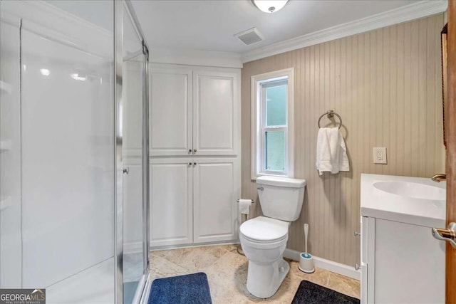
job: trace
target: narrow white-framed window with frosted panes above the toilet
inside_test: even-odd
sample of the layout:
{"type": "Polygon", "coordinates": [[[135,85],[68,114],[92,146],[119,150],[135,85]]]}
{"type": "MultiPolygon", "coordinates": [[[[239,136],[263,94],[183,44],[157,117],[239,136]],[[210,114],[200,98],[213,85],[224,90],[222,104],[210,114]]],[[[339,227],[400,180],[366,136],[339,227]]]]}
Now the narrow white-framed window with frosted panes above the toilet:
{"type": "Polygon", "coordinates": [[[293,177],[294,69],[252,76],[252,179],[293,177]]]}

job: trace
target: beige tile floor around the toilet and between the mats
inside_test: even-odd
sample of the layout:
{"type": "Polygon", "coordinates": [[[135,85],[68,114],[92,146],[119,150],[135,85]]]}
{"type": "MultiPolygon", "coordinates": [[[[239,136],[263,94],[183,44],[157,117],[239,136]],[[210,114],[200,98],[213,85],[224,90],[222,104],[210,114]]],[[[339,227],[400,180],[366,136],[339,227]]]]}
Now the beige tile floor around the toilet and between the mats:
{"type": "Polygon", "coordinates": [[[236,245],[180,248],[150,253],[151,278],[204,272],[209,280],[214,304],[291,303],[302,280],[331,288],[355,298],[360,297],[360,283],[352,278],[316,268],[314,273],[299,271],[290,261],[290,272],[276,294],[268,299],[251,295],[246,288],[248,260],[239,255],[236,245]]]}

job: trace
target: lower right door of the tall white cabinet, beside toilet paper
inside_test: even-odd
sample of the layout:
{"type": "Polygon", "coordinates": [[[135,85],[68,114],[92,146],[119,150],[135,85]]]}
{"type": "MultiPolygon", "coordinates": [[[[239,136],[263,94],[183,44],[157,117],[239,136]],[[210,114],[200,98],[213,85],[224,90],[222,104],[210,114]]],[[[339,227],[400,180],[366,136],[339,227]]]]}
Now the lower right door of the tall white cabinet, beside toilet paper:
{"type": "Polygon", "coordinates": [[[237,238],[238,159],[195,159],[193,169],[194,243],[237,238]]]}

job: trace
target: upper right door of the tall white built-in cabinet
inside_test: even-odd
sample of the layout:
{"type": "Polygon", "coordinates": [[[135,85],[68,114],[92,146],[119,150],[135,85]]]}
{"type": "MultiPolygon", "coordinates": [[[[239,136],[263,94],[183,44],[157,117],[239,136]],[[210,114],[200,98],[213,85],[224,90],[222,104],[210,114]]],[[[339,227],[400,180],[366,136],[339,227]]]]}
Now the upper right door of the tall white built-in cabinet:
{"type": "Polygon", "coordinates": [[[193,149],[195,155],[236,155],[239,75],[193,73],[193,149]]]}

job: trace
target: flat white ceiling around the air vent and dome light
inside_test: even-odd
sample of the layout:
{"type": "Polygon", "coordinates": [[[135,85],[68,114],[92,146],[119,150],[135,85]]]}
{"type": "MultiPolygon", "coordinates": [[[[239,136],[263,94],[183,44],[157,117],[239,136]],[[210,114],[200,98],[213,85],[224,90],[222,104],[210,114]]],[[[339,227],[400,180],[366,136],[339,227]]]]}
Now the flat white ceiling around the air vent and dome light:
{"type": "Polygon", "coordinates": [[[152,47],[245,53],[416,0],[290,0],[274,14],[250,0],[132,0],[152,47]],[[256,27],[264,41],[244,45],[234,34],[256,27]]]}

